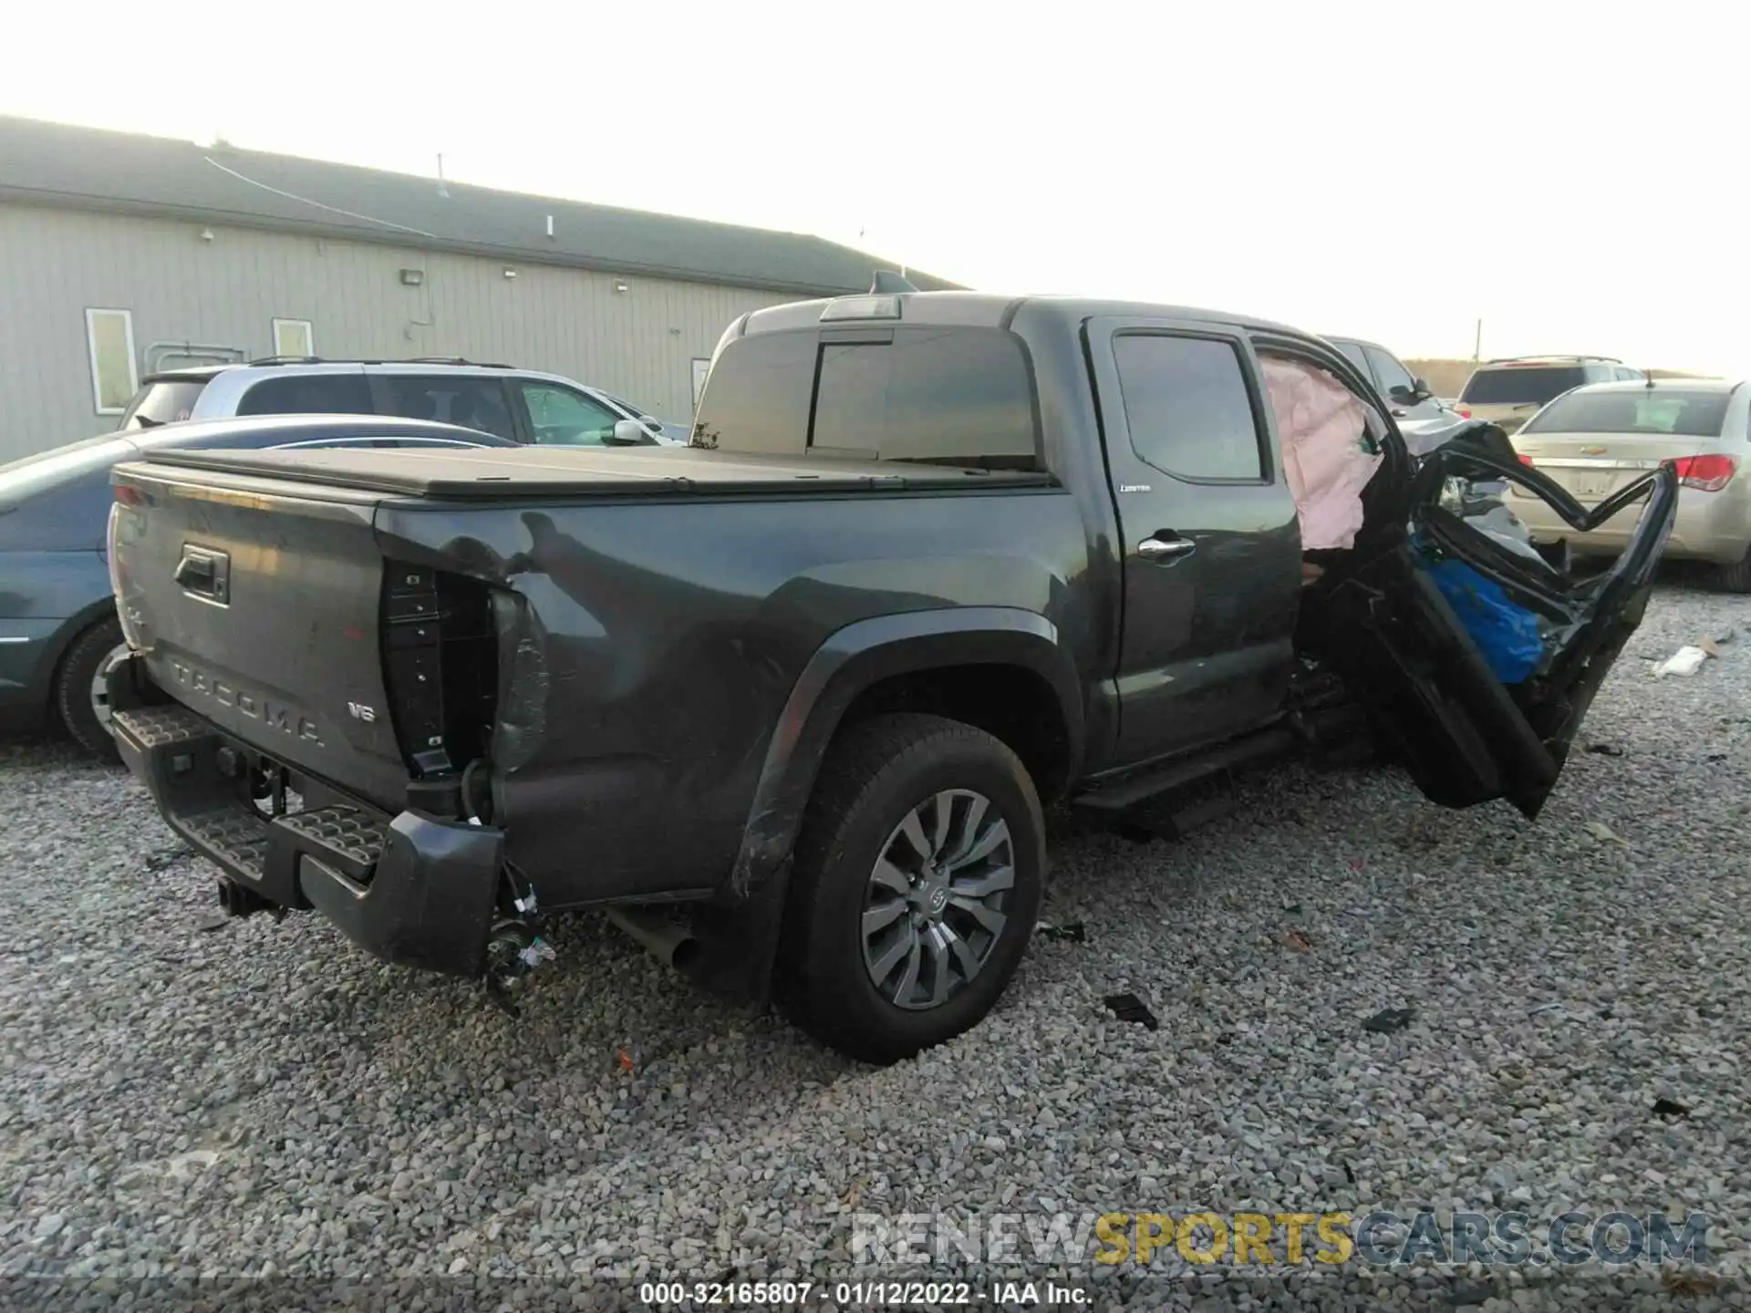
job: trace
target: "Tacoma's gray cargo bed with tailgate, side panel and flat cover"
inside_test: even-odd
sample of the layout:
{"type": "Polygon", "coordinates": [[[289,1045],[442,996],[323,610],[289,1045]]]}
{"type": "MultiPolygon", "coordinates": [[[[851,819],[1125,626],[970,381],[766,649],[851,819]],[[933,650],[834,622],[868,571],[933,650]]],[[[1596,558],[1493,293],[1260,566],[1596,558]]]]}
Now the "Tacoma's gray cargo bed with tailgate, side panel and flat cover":
{"type": "Polygon", "coordinates": [[[1089,569],[1080,508],[1042,474],[473,455],[117,466],[117,599],[144,674],[212,734],[387,816],[455,818],[490,760],[508,856],[555,907],[721,881],[833,634],[935,611],[1056,632],[1089,569]],[[685,825],[650,823],[667,800],[685,825]]]}

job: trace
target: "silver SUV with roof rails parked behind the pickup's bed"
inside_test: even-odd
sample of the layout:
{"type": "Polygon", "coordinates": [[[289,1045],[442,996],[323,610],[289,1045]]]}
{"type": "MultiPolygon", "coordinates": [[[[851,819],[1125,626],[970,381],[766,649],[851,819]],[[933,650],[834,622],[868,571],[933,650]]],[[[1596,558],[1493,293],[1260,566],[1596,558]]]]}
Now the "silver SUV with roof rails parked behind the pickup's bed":
{"type": "Polygon", "coordinates": [[[399,415],[517,443],[678,446],[690,431],[560,375],[473,361],[270,359],[147,375],[121,427],[233,415],[399,415]]]}

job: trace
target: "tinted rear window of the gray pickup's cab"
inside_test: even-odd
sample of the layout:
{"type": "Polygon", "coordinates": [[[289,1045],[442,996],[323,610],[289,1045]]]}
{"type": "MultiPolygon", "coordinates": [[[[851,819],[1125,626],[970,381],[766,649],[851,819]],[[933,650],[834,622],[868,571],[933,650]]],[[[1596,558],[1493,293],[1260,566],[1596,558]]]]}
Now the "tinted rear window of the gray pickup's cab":
{"type": "Polygon", "coordinates": [[[900,324],[737,338],[706,382],[693,446],[1042,467],[1026,354],[995,327],[900,324]]]}

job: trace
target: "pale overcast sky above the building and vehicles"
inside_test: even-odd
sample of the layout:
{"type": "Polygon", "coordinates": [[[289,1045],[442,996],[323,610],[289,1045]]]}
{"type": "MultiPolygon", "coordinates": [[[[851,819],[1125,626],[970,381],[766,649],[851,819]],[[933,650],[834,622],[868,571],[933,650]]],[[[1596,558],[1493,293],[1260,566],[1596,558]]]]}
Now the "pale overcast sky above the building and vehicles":
{"type": "Polygon", "coordinates": [[[135,0],[9,28],[7,114],[443,152],[464,182],[1403,355],[1471,355],[1481,319],[1487,355],[1751,368],[1744,5],[135,0]]]}

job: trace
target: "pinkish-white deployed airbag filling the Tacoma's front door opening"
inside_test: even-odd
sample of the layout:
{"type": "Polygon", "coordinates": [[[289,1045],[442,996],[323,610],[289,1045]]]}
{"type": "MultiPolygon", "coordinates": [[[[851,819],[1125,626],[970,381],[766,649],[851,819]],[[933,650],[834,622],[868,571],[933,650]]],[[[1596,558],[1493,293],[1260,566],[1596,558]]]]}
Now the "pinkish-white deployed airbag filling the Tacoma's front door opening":
{"type": "Polygon", "coordinates": [[[1319,366],[1280,355],[1262,355],[1261,362],[1301,522],[1301,548],[1355,546],[1362,488],[1380,467],[1380,452],[1364,441],[1368,408],[1319,366]]]}

